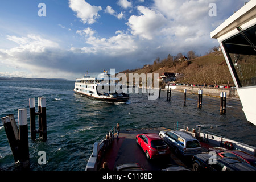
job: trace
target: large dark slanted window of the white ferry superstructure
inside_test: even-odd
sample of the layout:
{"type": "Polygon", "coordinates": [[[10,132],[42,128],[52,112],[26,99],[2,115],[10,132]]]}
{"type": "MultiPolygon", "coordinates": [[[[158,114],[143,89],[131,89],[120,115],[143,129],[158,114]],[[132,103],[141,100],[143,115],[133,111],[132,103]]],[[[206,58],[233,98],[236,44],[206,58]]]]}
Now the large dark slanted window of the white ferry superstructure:
{"type": "Polygon", "coordinates": [[[256,86],[256,25],[222,42],[238,87],[256,86]]]}

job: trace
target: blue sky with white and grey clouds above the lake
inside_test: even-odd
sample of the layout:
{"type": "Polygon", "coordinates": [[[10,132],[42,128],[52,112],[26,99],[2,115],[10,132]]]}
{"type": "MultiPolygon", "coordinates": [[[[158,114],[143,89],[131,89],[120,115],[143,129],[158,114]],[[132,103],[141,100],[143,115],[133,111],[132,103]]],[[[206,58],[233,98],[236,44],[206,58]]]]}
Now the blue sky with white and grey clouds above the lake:
{"type": "Polygon", "coordinates": [[[0,77],[75,80],[142,68],[169,54],[203,56],[218,46],[210,32],[245,2],[1,0],[0,77]]]}

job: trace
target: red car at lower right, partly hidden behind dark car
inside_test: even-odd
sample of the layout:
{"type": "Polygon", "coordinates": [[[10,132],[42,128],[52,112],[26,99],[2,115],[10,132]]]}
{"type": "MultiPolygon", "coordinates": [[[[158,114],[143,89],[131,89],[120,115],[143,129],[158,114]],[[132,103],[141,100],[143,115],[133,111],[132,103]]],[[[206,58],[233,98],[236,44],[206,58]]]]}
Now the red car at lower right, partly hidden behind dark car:
{"type": "Polygon", "coordinates": [[[236,157],[236,158],[242,159],[246,163],[251,164],[251,166],[256,167],[256,157],[241,150],[224,151],[224,152],[218,153],[218,155],[220,155],[222,158],[236,157]]]}

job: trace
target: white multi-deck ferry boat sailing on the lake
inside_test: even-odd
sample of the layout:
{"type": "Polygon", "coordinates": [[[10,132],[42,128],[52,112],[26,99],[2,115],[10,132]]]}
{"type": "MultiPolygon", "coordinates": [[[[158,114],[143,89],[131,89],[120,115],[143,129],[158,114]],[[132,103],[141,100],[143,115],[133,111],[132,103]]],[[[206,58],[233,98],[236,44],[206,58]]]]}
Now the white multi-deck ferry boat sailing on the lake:
{"type": "Polygon", "coordinates": [[[90,77],[84,75],[82,78],[77,78],[74,91],[84,96],[104,100],[108,102],[126,102],[129,100],[129,94],[122,92],[122,86],[117,86],[115,81],[118,78],[112,78],[110,73],[106,71],[98,77],[90,77]],[[116,88],[118,88],[116,90],[116,88]]]}

